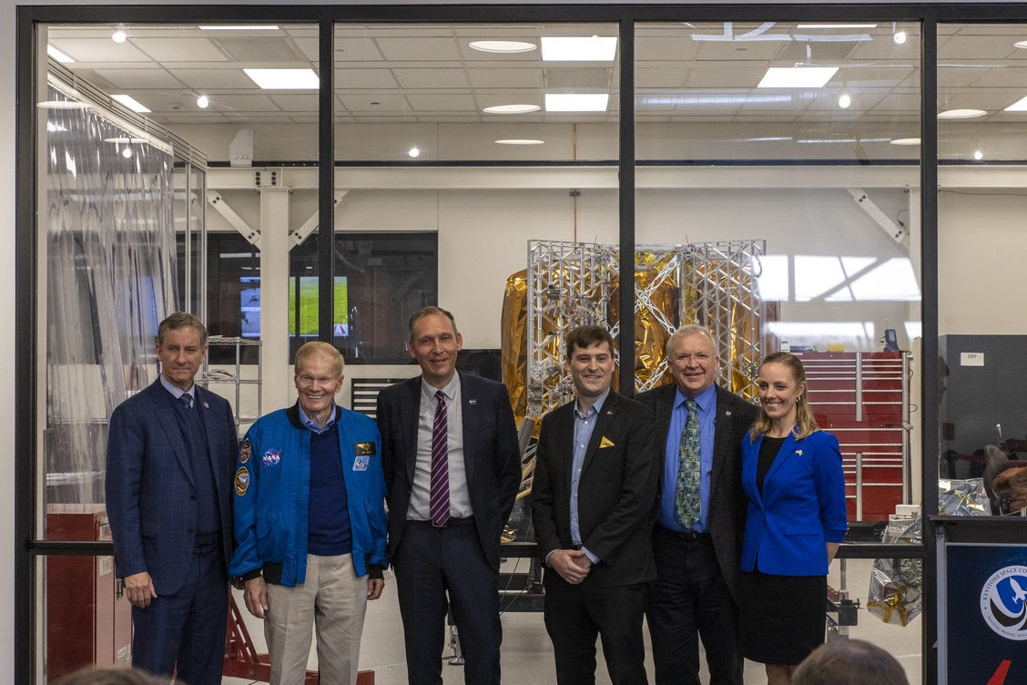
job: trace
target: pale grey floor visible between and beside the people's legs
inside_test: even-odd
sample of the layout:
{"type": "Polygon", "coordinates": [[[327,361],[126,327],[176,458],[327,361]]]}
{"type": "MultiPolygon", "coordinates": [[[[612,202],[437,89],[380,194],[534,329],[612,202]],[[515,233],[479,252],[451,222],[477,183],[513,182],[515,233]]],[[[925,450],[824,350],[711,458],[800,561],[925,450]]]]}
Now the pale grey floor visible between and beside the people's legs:
{"type": "MultiPolygon", "coordinates": [[[[515,562],[507,562],[503,570],[512,570],[515,562]]],[[[527,561],[521,562],[521,569],[527,561]]],[[[872,561],[852,560],[846,563],[846,586],[849,597],[859,599],[859,624],[851,627],[849,637],[867,640],[890,652],[906,669],[909,682],[921,682],[921,626],[922,616],[915,618],[908,626],[885,624],[866,610],[867,591],[870,583],[872,561]]],[[[835,562],[828,582],[840,586],[840,566],[835,562]]],[[[236,602],[246,616],[246,627],[256,643],[257,651],[266,651],[264,633],[261,621],[249,615],[242,604],[240,593],[236,593],[236,602]]],[[[553,664],[553,648],[549,644],[545,627],[542,625],[540,613],[507,612],[502,616],[503,646],[502,672],[503,682],[509,683],[555,683],[556,672],[553,664]]],[[[601,648],[600,648],[601,652],[601,648]]],[[[650,654],[648,635],[646,635],[646,652],[650,654]]],[[[446,654],[450,655],[447,649],[446,654]]],[[[610,679],[606,673],[602,658],[599,659],[596,683],[609,685],[610,679]]],[[[652,661],[646,663],[649,671],[649,682],[652,683],[652,661]]],[[[317,668],[314,650],[311,649],[309,668],[317,668]]],[[[364,639],[360,645],[360,669],[375,672],[375,685],[405,685],[407,682],[407,663],[403,649],[403,625],[400,621],[400,608],[396,603],[395,580],[386,572],[385,592],[382,598],[368,605],[367,618],[364,625],[364,639]]],[[[762,685],[766,683],[763,667],[751,661],[746,662],[746,685],[762,685]]],[[[709,682],[709,676],[703,665],[701,673],[703,683],[709,682]]],[[[445,685],[463,683],[463,672],[460,667],[444,665],[443,681],[445,685]]],[[[253,681],[236,678],[225,678],[223,685],[242,685],[253,681]]]]}

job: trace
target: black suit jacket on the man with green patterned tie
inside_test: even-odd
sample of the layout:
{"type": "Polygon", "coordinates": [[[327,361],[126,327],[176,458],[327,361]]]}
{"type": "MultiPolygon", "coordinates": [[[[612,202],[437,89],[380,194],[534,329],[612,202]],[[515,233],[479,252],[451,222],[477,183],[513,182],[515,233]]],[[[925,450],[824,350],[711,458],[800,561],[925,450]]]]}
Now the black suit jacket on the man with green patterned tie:
{"type": "MultiPolygon", "coordinates": [[[[661,385],[638,396],[652,408],[654,431],[659,443],[659,490],[663,489],[663,454],[677,386],[661,385]]],[[[713,473],[710,484],[708,526],[720,571],[735,603],[738,598],[738,569],[741,530],[746,522],[746,495],[741,491],[741,441],[756,419],[757,409],[733,392],[717,386],[717,416],[714,419],[713,473]]]]}

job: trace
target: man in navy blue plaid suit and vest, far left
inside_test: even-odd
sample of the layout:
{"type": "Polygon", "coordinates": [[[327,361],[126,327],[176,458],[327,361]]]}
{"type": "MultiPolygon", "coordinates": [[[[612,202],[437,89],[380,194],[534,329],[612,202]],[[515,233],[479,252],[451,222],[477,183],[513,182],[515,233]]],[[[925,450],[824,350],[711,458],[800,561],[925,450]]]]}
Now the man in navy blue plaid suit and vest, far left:
{"type": "Polygon", "coordinates": [[[157,329],[160,375],[111,416],[107,513],[132,605],[132,664],[188,685],[221,683],[232,551],[228,403],[193,383],[206,329],[176,312],[157,329]]]}

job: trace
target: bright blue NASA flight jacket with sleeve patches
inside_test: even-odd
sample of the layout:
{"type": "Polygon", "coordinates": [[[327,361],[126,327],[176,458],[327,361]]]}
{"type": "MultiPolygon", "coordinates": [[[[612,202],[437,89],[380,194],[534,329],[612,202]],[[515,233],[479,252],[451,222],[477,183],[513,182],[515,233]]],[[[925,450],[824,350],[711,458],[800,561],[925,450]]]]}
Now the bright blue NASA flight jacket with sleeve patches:
{"type": "MultiPolygon", "coordinates": [[[[381,577],[385,556],[385,475],[381,436],[375,422],[336,407],[339,452],[346,483],[353,570],[381,577]]],[[[235,463],[235,553],[232,577],[281,585],[304,582],[307,571],[307,502],[310,493],[310,435],[298,405],[257,420],[235,463]]]]}

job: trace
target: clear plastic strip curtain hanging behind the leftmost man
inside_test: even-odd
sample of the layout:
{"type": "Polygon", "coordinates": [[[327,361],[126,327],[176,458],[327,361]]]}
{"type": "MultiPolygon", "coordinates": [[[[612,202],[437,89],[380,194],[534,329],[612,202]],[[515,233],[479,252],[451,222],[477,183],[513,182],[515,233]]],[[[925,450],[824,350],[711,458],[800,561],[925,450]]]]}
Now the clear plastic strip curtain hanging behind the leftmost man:
{"type": "Polygon", "coordinates": [[[155,379],[177,301],[173,155],[50,80],[41,179],[47,504],[104,501],[107,422],[155,379]],[[68,103],[53,106],[53,103],[68,103]]]}

